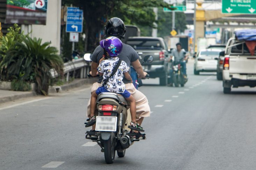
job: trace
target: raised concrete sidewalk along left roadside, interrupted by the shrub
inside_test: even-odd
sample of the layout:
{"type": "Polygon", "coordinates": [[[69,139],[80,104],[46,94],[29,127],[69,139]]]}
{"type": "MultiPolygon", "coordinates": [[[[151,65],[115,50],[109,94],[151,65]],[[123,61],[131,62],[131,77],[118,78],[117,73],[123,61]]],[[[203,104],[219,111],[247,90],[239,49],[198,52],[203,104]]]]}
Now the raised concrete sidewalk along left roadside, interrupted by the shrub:
{"type": "MultiPolygon", "coordinates": [[[[72,88],[80,87],[85,84],[91,86],[93,83],[97,82],[97,78],[85,78],[85,79],[74,79],[69,84],[64,84],[62,86],[52,86],[49,88],[49,94],[62,92],[66,90],[70,90],[72,88]]],[[[9,90],[0,90],[0,104],[18,100],[21,98],[28,98],[35,96],[35,92],[19,92],[19,91],[9,91],[9,90]]]]}

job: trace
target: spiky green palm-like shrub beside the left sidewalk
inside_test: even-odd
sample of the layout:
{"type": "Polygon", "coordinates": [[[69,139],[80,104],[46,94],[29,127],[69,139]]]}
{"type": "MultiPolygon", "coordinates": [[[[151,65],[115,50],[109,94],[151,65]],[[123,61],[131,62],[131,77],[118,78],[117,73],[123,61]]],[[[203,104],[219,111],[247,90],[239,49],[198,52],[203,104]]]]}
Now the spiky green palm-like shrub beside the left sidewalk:
{"type": "Polygon", "coordinates": [[[37,93],[43,95],[48,94],[53,79],[51,69],[63,75],[63,60],[58,50],[51,47],[50,42],[42,44],[42,39],[29,36],[25,36],[22,42],[16,41],[0,61],[0,74],[5,74],[5,79],[16,79],[22,73],[22,80],[35,82],[37,93]]]}

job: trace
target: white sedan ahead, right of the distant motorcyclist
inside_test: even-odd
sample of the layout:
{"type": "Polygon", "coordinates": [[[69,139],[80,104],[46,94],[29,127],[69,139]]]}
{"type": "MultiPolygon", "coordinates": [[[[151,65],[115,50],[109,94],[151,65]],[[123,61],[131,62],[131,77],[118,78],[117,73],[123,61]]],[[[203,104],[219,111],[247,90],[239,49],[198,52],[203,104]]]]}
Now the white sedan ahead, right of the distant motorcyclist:
{"type": "Polygon", "coordinates": [[[216,72],[217,61],[221,49],[201,49],[197,54],[194,62],[194,75],[199,75],[200,72],[216,72]]]}

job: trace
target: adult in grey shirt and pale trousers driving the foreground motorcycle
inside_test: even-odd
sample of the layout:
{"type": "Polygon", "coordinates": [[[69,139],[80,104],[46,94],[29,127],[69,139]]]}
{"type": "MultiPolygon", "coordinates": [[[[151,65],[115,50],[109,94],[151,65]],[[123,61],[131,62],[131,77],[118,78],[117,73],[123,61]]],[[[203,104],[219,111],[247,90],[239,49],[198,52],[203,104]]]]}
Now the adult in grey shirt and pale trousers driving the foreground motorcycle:
{"type": "MultiPolygon", "coordinates": [[[[115,36],[119,39],[124,38],[126,32],[126,27],[123,21],[120,18],[111,18],[105,27],[105,36],[115,36]]],[[[92,65],[91,65],[91,72],[90,74],[92,76],[97,76],[97,67],[99,65],[100,60],[102,60],[102,56],[104,55],[104,50],[100,46],[98,46],[91,57],[92,60],[92,65]]],[[[133,68],[137,71],[139,74],[139,78],[143,78],[147,75],[146,72],[143,71],[142,66],[139,59],[139,56],[137,52],[129,45],[123,43],[123,49],[122,52],[119,55],[119,58],[123,61],[125,61],[128,66],[130,65],[133,66],[133,68]]],[[[130,73],[130,70],[129,70],[130,73]]],[[[96,91],[98,87],[101,86],[101,81],[102,77],[99,78],[98,82],[94,83],[92,86],[91,93],[96,91]]],[[[135,98],[136,100],[136,121],[140,125],[142,124],[143,118],[144,117],[149,117],[150,116],[150,107],[148,104],[148,99],[147,97],[141,93],[140,91],[136,90],[134,85],[127,80],[125,77],[123,78],[123,82],[125,83],[125,88],[127,91],[131,93],[131,95],[135,98]]],[[[96,112],[95,112],[96,114],[96,112]]],[[[88,102],[87,106],[87,116],[90,117],[90,101],[88,102]]],[[[92,127],[92,131],[95,130],[95,125],[92,127]]],[[[145,139],[145,135],[141,134],[140,132],[137,133],[136,138],[143,138],[145,139]]]]}

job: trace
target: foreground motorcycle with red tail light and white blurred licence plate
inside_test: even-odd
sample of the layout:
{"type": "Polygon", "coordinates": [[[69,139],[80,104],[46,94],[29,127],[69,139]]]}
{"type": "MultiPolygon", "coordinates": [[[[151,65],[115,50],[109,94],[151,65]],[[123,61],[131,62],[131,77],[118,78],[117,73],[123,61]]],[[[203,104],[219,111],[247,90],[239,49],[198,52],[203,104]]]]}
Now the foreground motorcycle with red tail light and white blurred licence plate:
{"type": "MultiPolygon", "coordinates": [[[[90,57],[91,54],[84,55],[86,61],[91,61],[90,57]]],[[[143,58],[143,62],[152,61],[151,55],[143,58]]],[[[88,74],[88,77],[91,75],[88,74]]],[[[111,164],[115,160],[115,151],[119,157],[124,157],[126,149],[140,139],[134,139],[136,133],[128,128],[131,115],[129,103],[123,96],[111,92],[100,93],[96,103],[98,116],[96,116],[95,131],[87,131],[86,139],[97,142],[101,152],[104,152],[106,163],[111,164]]]]}

